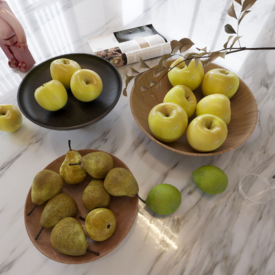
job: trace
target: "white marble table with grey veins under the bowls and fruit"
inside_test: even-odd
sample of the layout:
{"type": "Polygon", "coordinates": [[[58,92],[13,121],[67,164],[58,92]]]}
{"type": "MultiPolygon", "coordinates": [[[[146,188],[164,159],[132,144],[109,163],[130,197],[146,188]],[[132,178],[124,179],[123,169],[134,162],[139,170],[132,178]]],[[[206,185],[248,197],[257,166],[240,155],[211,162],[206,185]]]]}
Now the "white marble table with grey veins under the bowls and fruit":
{"type": "MultiPolygon", "coordinates": [[[[226,11],[232,1],[188,0],[8,0],[21,21],[36,65],[60,54],[91,53],[87,39],[153,23],[168,40],[188,37],[197,47],[221,49],[235,23],[226,11]]],[[[237,4],[235,4],[237,6],[237,4]]],[[[257,1],[240,25],[242,45],[275,46],[275,4],[257,1]]],[[[275,200],[246,202],[239,179],[275,152],[275,51],[230,54],[217,64],[238,74],[259,108],[254,133],[241,146],[212,157],[188,157],[151,141],[135,123],[129,97],[100,122],[74,131],[44,129],[23,118],[14,133],[0,133],[0,274],[184,274],[271,275],[275,269],[275,200]],[[165,217],[140,203],[129,234],[107,256],[82,265],[66,265],[41,254],[25,230],[23,210],[34,175],[67,152],[94,148],[125,162],[140,185],[140,196],[157,184],[176,186],[180,208],[165,217]],[[229,186],[220,195],[196,188],[192,170],[205,164],[222,168],[229,186]]],[[[157,64],[158,59],[148,61],[157,64]]],[[[122,80],[132,65],[119,68],[122,80]]],[[[138,69],[138,65],[133,65],[138,69]]],[[[17,105],[17,89],[26,73],[8,67],[0,51],[0,103],[17,105]]]]}

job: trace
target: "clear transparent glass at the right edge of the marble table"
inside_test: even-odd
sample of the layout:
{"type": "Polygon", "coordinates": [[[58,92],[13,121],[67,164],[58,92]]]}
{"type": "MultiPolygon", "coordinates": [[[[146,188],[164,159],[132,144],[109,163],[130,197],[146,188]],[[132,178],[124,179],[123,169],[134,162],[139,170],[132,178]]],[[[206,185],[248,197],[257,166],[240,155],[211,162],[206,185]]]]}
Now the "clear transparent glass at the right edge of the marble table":
{"type": "Polygon", "coordinates": [[[275,154],[241,178],[239,191],[252,203],[263,203],[275,198],[275,154]]]}

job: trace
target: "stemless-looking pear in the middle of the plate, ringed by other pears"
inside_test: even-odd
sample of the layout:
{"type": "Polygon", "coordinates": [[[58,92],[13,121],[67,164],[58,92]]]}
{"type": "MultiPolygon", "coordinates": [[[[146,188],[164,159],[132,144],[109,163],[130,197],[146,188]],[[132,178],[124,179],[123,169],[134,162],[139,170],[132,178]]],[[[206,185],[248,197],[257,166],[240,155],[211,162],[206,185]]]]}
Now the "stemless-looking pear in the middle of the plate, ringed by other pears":
{"type": "Polygon", "coordinates": [[[95,208],[107,208],[111,195],[105,190],[102,179],[92,179],[82,195],[83,206],[90,212],[95,208]]]}

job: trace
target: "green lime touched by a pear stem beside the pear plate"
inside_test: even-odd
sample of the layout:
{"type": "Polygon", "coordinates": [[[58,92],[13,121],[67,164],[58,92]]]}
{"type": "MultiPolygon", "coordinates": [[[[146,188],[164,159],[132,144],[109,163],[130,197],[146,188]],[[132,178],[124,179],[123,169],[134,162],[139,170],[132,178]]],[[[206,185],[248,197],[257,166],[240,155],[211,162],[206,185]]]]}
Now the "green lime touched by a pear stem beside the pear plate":
{"type": "Polygon", "coordinates": [[[181,193],[173,185],[159,184],[148,192],[144,202],[157,214],[171,214],[181,205],[181,193]]]}

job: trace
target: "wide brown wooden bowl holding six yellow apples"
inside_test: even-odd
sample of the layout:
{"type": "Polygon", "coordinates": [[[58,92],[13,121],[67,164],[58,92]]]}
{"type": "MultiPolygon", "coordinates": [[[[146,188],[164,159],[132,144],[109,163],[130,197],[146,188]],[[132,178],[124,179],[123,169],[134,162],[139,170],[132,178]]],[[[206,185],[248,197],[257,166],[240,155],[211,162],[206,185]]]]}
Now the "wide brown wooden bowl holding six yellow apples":
{"type": "MultiPolygon", "coordinates": [[[[157,66],[154,68],[157,68],[157,66]]],[[[204,68],[204,72],[206,73],[210,69],[215,68],[222,67],[210,63],[210,65],[204,68]]],[[[243,144],[245,140],[248,140],[248,137],[250,137],[256,127],[258,120],[258,108],[252,92],[241,79],[239,89],[230,99],[231,121],[228,125],[228,137],[226,138],[225,142],[223,142],[223,144],[216,150],[208,153],[201,153],[196,151],[188,144],[186,131],[184,135],[175,142],[160,142],[155,137],[153,137],[148,125],[148,114],[150,113],[151,109],[155,107],[155,105],[163,102],[164,96],[173,87],[168,80],[168,76],[166,74],[167,70],[168,69],[164,70],[161,75],[154,79],[155,82],[160,80],[161,91],[157,90],[157,88],[153,88],[150,94],[144,91],[144,87],[150,87],[151,84],[151,80],[146,74],[142,74],[139,78],[135,78],[133,87],[131,89],[130,106],[133,113],[133,118],[135,119],[135,122],[137,122],[137,125],[140,126],[140,129],[142,129],[142,131],[144,131],[144,133],[150,137],[151,140],[170,151],[179,153],[181,155],[190,156],[219,155],[237,148],[243,144]]],[[[201,86],[199,86],[193,92],[197,98],[197,102],[199,102],[199,100],[203,98],[201,86]]],[[[193,118],[195,118],[195,114],[189,118],[188,124],[192,121],[193,118]]]]}

